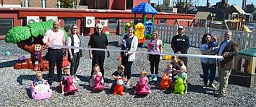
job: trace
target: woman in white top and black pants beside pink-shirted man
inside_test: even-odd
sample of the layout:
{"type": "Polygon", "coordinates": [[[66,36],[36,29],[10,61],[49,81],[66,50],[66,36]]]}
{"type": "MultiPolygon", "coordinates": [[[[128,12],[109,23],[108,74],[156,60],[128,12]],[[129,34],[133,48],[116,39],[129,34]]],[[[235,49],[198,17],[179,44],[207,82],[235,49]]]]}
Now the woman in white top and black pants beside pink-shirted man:
{"type": "MultiPolygon", "coordinates": [[[[80,47],[81,46],[81,40],[80,40],[80,35],[78,34],[78,27],[77,25],[72,25],[69,27],[69,38],[67,39],[67,46],[75,46],[75,47],[80,47]]],[[[69,48],[68,49],[68,57],[70,61],[70,73],[74,77],[74,82],[76,80],[80,80],[79,78],[76,77],[77,73],[77,68],[80,63],[80,57],[82,57],[82,50],[77,49],[77,48],[69,48]]]]}

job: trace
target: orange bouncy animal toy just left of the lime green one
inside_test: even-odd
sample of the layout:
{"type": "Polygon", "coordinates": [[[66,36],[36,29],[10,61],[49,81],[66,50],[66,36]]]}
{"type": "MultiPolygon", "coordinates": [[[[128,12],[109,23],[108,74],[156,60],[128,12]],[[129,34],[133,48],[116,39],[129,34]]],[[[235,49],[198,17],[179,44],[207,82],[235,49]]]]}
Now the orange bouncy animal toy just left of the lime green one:
{"type": "Polygon", "coordinates": [[[171,86],[170,76],[166,72],[164,72],[162,80],[160,82],[160,88],[163,90],[167,90],[168,87],[171,86]]]}

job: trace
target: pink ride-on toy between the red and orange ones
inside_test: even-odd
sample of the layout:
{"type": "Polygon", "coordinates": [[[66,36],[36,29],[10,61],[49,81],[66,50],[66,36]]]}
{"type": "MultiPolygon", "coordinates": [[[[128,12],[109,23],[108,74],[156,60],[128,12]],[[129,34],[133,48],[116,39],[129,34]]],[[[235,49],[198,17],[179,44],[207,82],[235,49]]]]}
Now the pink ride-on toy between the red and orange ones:
{"type": "Polygon", "coordinates": [[[145,78],[141,78],[135,87],[135,94],[137,95],[148,95],[150,93],[150,88],[148,87],[147,83],[146,83],[146,79],[145,78]]]}

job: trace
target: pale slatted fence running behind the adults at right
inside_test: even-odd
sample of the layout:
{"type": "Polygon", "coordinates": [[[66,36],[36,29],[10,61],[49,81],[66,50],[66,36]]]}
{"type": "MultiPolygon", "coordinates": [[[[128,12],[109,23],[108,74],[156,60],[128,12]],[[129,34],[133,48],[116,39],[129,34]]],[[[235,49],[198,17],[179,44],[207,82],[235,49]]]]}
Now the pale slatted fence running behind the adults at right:
{"type": "MultiPolygon", "coordinates": [[[[124,26],[127,22],[119,22],[119,35],[124,34],[124,26]]],[[[161,40],[164,43],[171,43],[174,35],[177,35],[177,25],[154,25],[154,30],[157,30],[161,40]]],[[[220,44],[224,38],[226,30],[209,29],[205,27],[184,27],[185,35],[189,36],[189,43],[192,47],[200,47],[202,35],[210,33],[219,37],[218,43],[220,44]]],[[[232,39],[239,44],[239,50],[244,48],[256,47],[256,33],[242,32],[232,30],[232,39]]]]}

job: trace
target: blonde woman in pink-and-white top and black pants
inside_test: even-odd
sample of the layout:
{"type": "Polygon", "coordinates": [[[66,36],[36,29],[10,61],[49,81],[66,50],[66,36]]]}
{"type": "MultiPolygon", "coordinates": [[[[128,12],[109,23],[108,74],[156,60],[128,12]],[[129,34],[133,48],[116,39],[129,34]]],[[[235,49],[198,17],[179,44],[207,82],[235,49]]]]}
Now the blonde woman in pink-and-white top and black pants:
{"type": "Polygon", "coordinates": [[[161,60],[161,53],[162,53],[162,40],[159,38],[158,32],[153,31],[153,37],[148,43],[148,52],[153,52],[155,54],[148,54],[148,60],[150,61],[150,80],[158,80],[158,66],[159,61],[161,60]],[[154,72],[155,68],[155,72],[154,72]]]}

